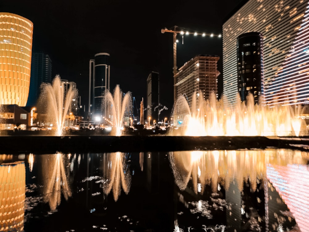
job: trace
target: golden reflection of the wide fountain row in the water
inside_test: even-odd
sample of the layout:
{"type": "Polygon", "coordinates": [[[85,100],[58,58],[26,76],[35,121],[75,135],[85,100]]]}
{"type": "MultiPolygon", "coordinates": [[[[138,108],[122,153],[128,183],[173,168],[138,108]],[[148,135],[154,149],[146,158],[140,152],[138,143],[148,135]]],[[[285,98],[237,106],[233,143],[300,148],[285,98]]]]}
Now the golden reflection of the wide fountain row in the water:
{"type": "Polygon", "coordinates": [[[195,193],[201,192],[201,194],[205,184],[211,184],[214,192],[217,191],[218,183],[228,190],[234,179],[239,184],[239,191],[243,189],[243,182],[248,180],[252,190],[255,191],[257,180],[263,181],[266,177],[266,168],[269,164],[281,166],[306,164],[308,158],[306,152],[272,149],[187,151],[169,154],[175,182],[180,190],[184,190],[192,179],[195,193]]]}

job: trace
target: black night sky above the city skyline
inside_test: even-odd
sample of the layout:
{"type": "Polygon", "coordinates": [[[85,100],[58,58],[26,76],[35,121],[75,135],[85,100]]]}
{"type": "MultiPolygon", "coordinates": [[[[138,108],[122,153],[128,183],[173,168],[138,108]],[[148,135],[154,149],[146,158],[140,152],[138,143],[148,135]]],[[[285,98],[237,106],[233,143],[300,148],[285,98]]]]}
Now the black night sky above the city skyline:
{"type": "MultiPolygon", "coordinates": [[[[139,108],[146,107],[146,79],[159,72],[160,103],[173,104],[173,34],[161,29],[175,25],[190,31],[222,34],[224,19],[242,0],[29,0],[1,1],[0,11],[31,20],[32,52],[44,52],[52,60],[53,77],[74,81],[81,104],[88,109],[89,60],[96,53],[110,54],[111,92],[119,84],[131,92],[139,108]]],[[[177,67],[198,54],[219,55],[222,79],[222,37],[184,36],[177,44],[177,67]]],[[[135,104],[135,103],[134,103],[135,104]]],[[[161,117],[160,117],[161,118],[161,117]]]]}

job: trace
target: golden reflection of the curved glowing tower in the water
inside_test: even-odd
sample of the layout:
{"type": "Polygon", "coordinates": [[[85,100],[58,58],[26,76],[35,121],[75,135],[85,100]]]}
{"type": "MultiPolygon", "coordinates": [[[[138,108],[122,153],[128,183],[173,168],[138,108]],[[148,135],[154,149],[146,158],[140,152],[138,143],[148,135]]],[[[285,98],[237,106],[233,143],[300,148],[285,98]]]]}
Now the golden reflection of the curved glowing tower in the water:
{"type": "Polygon", "coordinates": [[[24,162],[0,164],[0,231],[23,231],[25,189],[24,162]]]}

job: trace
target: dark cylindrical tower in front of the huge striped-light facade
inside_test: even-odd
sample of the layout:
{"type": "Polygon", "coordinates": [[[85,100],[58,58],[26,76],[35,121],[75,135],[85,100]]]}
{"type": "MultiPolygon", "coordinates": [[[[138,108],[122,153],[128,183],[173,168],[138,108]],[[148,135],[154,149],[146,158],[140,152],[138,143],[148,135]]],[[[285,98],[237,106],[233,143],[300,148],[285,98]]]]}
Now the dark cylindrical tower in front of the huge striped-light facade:
{"type": "Polygon", "coordinates": [[[252,93],[254,103],[263,94],[263,36],[259,32],[248,32],[237,37],[237,78],[241,101],[252,93]]]}

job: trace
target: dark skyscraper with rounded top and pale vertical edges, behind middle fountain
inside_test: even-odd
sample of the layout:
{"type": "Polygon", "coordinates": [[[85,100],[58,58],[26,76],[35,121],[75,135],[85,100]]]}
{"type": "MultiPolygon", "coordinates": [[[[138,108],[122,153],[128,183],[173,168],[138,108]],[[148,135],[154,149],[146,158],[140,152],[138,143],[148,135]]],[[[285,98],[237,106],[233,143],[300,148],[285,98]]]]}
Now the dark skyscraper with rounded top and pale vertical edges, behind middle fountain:
{"type": "Polygon", "coordinates": [[[95,54],[95,59],[89,62],[89,114],[92,119],[103,117],[106,105],[103,102],[104,93],[109,91],[109,54],[95,54]]]}

